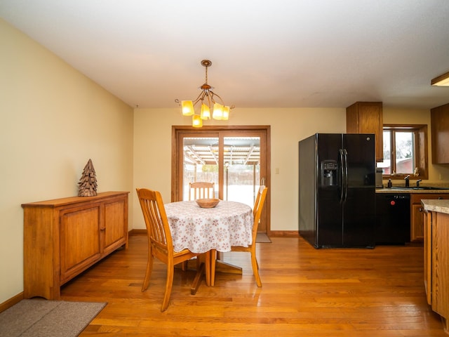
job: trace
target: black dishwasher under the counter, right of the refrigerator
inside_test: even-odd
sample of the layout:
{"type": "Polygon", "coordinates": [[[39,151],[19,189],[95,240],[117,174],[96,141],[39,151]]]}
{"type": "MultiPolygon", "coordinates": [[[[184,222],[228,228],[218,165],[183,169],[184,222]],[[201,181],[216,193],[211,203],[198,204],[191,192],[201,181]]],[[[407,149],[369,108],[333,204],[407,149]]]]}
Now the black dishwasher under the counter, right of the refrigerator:
{"type": "Polygon", "coordinates": [[[410,242],[410,194],[376,193],[375,242],[410,242]]]}

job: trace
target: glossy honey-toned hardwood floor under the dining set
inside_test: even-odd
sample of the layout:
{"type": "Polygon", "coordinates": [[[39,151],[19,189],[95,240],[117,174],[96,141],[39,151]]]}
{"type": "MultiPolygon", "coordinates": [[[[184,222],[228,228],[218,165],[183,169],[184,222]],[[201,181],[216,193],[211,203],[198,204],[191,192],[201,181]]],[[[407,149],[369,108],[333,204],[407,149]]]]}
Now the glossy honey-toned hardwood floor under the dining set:
{"type": "Polygon", "coordinates": [[[63,286],[63,300],[108,304],[86,336],[448,336],[426,303],[422,246],[312,248],[302,238],[257,244],[262,288],[249,253],[225,253],[243,275],[217,273],[215,286],[190,295],[193,271],[175,271],[170,305],[160,312],[166,280],[154,261],[141,292],[145,235],[63,286]]]}

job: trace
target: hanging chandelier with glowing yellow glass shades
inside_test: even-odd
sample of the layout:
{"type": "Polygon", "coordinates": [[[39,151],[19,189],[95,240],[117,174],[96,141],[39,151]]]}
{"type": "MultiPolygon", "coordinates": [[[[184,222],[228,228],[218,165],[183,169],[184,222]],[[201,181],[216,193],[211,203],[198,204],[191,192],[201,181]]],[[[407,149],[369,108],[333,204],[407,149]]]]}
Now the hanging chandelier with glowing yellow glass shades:
{"type": "Polygon", "coordinates": [[[210,111],[212,112],[212,118],[216,120],[226,121],[229,119],[229,111],[234,108],[225,105],[220,95],[217,95],[212,91],[213,87],[208,84],[208,67],[212,65],[210,60],[202,60],[201,65],[206,68],[206,81],[200,87],[201,93],[195,100],[182,100],[181,102],[176,99],[176,103],[180,103],[182,107],[183,116],[192,116],[192,126],[201,128],[203,126],[203,119],[210,119],[210,111]],[[220,100],[217,102],[216,98],[220,100]],[[194,107],[199,103],[200,112],[195,113],[194,107]],[[213,107],[213,110],[211,109],[213,107]]]}

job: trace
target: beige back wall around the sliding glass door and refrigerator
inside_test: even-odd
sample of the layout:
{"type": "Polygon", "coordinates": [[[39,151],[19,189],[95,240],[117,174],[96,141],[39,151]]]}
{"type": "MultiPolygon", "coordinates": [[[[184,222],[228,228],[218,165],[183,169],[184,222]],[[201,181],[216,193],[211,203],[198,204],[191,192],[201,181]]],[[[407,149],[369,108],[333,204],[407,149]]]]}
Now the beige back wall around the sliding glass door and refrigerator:
{"type": "MultiPolygon", "coordinates": [[[[159,190],[170,202],[171,126],[189,125],[180,109],[134,110],[134,184],[159,190]]],[[[429,110],[384,108],[386,124],[430,124],[429,110]]],[[[271,229],[297,230],[297,143],[314,133],[344,133],[344,108],[239,109],[232,110],[229,121],[206,121],[205,125],[270,125],[272,128],[271,229]],[[275,174],[279,169],[279,174],[275,174]]],[[[429,126],[430,143],[430,126],[429,126]]],[[[430,154],[430,149],[429,149],[430,154]]],[[[431,158],[429,157],[429,161],[431,158]]],[[[429,163],[429,180],[448,183],[447,166],[429,163]],[[439,179],[439,176],[443,180],[439,179]]],[[[135,199],[135,192],[133,194],[135,199]]],[[[133,228],[144,228],[140,206],[134,201],[133,228]]]]}

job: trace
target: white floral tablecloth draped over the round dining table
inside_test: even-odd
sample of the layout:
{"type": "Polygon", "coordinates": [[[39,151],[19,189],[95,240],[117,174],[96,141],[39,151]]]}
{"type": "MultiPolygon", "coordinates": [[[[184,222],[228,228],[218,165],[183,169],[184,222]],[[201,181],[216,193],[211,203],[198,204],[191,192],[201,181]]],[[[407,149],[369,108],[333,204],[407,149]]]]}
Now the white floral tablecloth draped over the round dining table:
{"type": "Polygon", "coordinates": [[[220,201],[213,209],[201,209],[196,201],[178,201],[165,208],[175,251],[225,252],[253,242],[253,210],[246,204],[220,201]]]}

